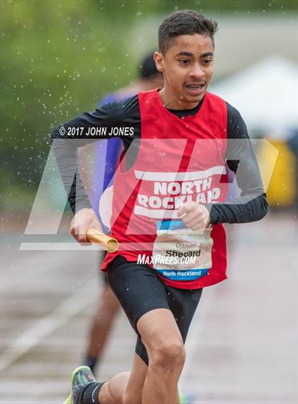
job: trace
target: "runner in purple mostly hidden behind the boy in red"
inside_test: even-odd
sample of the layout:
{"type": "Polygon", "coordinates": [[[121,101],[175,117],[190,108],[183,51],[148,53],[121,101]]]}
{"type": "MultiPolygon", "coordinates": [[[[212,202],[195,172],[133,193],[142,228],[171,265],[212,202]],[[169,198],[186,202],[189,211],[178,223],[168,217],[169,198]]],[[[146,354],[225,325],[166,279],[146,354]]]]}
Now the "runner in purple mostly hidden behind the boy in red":
{"type": "MultiPolygon", "coordinates": [[[[107,95],[99,103],[98,107],[100,108],[102,105],[108,102],[127,99],[135,94],[138,94],[138,92],[145,92],[149,89],[162,86],[162,74],[158,72],[156,68],[155,61],[153,60],[153,52],[145,55],[145,58],[141,60],[138,75],[139,77],[136,82],[118,89],[117,92],[107,95]]],[[[99,220],[101,221],[102,226],[104,226],[104,224],[102,223],[100,217],[99,201],[102,193],[105,190],[106,192],[109,192],[110,187],[112,186],[112,180],[116,171],[116,163],[121,151],[121,139],[113,138],[107,143],[105,160],[103,160],[102,156],[104,154],[103,148],[99,147],[102,146],[102,144],[99,145],[99,143],[96,143],[95,145],[96,175],[93,175],[92,187],[90,190],[92,207],[94,212],[99,215],[99,220]]],[[[109,226],[105,226],[105,231],[109,232],[109,230],[109,226]]],[[[104,256],[101,253],[101,260],[104,258],[104,256]]],[[[83,361],[85,365],[91,368],[92,372],[96,371],[96,366],[98,366],[101,361],[101,356],[104,352],[106,341],[109,338],[111,327],[120,307],[116,296],[109,287],[109,283],[106,279],[106,273],[101,273],[103,275],[102,278],[104,280],[104,288],[101,290],[96,312],[92,318],[92,324],[90,325],[88,334],[87,351],[84,355],[83,361]]]]}

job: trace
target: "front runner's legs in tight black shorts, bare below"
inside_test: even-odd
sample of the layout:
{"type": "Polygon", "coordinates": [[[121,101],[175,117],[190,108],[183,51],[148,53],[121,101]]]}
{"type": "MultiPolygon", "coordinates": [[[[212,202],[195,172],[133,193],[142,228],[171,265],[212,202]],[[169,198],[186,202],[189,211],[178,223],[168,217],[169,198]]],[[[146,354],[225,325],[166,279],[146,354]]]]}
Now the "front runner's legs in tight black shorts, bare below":
{"type": "Polygon", "coordinates": [[[90,404],[96,389],[101,404],[179,403],[177,382],[184,364],[183,341],[202,290],[169,288],[146,266],[121,258],[114,261],[108,271],[109,282],[139,334],[139,357],[135,356],[131,373],[118,373],[109,382],[97,383],[99,387],[96,383],[95,387],[94,383],[82,386],[81,393],[89,397],[90,404]]]}

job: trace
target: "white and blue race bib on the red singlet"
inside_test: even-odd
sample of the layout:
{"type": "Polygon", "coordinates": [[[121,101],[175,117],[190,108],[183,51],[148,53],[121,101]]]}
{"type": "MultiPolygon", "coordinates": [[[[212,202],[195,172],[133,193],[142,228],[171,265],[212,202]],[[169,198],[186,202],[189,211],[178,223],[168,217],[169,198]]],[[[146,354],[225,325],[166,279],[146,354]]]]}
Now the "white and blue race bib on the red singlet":
{"type": "Polygon", "coordinates": [[[153,268],[170,280],[195,280],[208,275],[212,266],[211,230],[193,231],[182,220],[157,222],[153,268]]]}

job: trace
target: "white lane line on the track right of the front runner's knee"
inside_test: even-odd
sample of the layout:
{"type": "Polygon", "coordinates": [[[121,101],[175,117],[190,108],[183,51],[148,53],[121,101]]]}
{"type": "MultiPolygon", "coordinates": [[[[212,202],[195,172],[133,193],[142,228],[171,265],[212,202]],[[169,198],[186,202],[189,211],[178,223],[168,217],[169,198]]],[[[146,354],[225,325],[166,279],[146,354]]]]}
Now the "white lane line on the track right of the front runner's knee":
{"type": "Polygon", "coordinates": [[[197,311],[195,312],[194,318],[192,319],[192,325],[191,328],[189,329],[189,334],[187,335],[187,341],[185,344],[187,361],[185,363],[179,381],[179,385],[181,386],[182,391],[185,382],[187,381],[187,376],[189,376],[190,371],[194,371],[194,367],[192,367],[194,352],[198,349],[197,347],[201,342],[201,336],[204,330],[204,325],[209,315],[215,295],[216,295],[216,288],[214,288],[214,286],[211,286],[210,288],[203,290],[201,301],[199,302],[197,311]]]}

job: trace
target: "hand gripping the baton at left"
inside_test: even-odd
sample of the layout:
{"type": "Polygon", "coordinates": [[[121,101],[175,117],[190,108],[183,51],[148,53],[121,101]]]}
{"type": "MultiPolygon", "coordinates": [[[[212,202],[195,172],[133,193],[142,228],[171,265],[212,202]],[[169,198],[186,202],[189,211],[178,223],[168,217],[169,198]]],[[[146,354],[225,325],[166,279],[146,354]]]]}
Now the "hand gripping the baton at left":
{"type": "Polygon", "coordinates": [[[91,208],[80,209],[72,219],[70,224],[70,234],[75,237],[79,244],[84,246],[90,245],[87,241],[86,231],[88,227],[94,227],[94,229],[103,233],[101,224],[97,218],[95,212],[91,208]]]}

